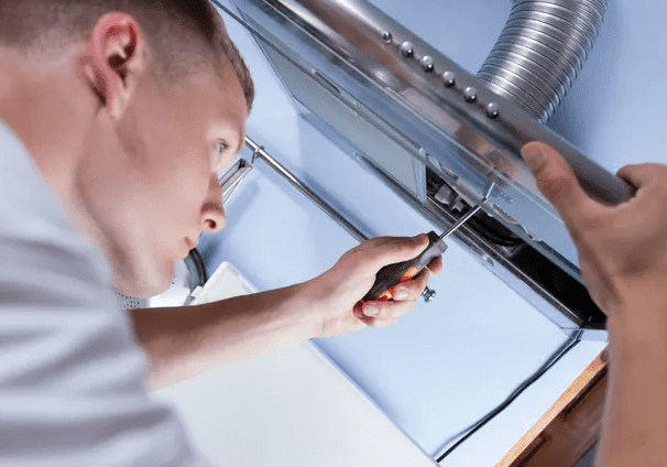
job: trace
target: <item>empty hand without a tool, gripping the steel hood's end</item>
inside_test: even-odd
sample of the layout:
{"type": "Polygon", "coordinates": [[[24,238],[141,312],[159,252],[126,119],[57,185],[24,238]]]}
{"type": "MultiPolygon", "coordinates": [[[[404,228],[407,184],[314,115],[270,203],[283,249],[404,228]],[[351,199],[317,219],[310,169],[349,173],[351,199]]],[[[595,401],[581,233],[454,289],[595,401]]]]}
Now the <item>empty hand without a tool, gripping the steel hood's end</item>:
{"type": "Polygon", "coordinates": [[[641,313],[653,302],[667,305],[667,166],[625,166],[619,176],[637,188],[615,207],[591,199],[550,146],[522,149],[537,186],[562,217],[579,251],[586,285],[608,315],[627,305],[641,313]],[[635,305],[635,306],[633,306],[635,305]]]}

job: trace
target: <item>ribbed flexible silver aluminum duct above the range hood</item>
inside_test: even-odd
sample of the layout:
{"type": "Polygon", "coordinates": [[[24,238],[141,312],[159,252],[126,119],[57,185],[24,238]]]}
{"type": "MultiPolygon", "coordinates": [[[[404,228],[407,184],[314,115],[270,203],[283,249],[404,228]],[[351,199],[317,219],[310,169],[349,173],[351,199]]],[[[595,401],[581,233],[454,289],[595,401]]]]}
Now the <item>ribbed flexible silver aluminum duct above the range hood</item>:
{"type": "Polygon", "coordinates": [[[546,122],[588,58],[605,11],[606,0],[515,0],[478,77],[546,122]]]}

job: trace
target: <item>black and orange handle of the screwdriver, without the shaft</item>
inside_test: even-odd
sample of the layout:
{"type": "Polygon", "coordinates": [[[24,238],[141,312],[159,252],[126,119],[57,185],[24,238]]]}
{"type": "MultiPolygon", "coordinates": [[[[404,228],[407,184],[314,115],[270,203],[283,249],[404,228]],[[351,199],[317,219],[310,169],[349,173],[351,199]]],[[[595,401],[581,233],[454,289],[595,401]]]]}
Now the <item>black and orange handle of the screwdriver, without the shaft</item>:
{"type": "Polygon", "coordinates": [[[428,234],[428,247],[415,259],[389,264],[378,271],[375,283],[361,298],[363,302],[387,302],[394,296],[393,287],[400,282],[409,281],[434,259],[447,251],[447,245],[434,231],[428,234]]]}

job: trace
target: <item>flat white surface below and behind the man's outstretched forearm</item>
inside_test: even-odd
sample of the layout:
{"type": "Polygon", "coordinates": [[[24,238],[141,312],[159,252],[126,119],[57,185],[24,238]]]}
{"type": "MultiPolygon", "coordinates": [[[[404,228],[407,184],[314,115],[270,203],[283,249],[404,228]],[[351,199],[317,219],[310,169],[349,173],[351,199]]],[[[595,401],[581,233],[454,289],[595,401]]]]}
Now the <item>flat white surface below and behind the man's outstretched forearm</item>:
{"type": "MultiPolygon", "coordinates": [[[[222,263],[194,303],[252,293],[222,263]]],[[[310,343],[217,368],[155,392],[176,404],[219,466],[434,467],[310,343]]]]}

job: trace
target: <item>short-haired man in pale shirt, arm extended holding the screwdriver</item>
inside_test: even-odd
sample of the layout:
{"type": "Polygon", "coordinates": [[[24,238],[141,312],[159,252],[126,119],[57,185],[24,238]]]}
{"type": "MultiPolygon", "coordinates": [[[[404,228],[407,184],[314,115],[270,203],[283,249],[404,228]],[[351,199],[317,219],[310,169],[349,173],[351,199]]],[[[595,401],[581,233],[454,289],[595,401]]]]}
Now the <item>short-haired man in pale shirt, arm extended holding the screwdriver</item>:
{"type": "MultiPolygon", "coordinates": [[[[161,385],[316,336],[396,322],[360,304],[426,236],[381,238],[308,282],[210,305],[119,309],[222,228],[217,176],[252,82],[206,0],[0,0],[0,463],[199,466],[161,385]]],[[[438,271],[441,261],[430,269],[438,271]]]]}

